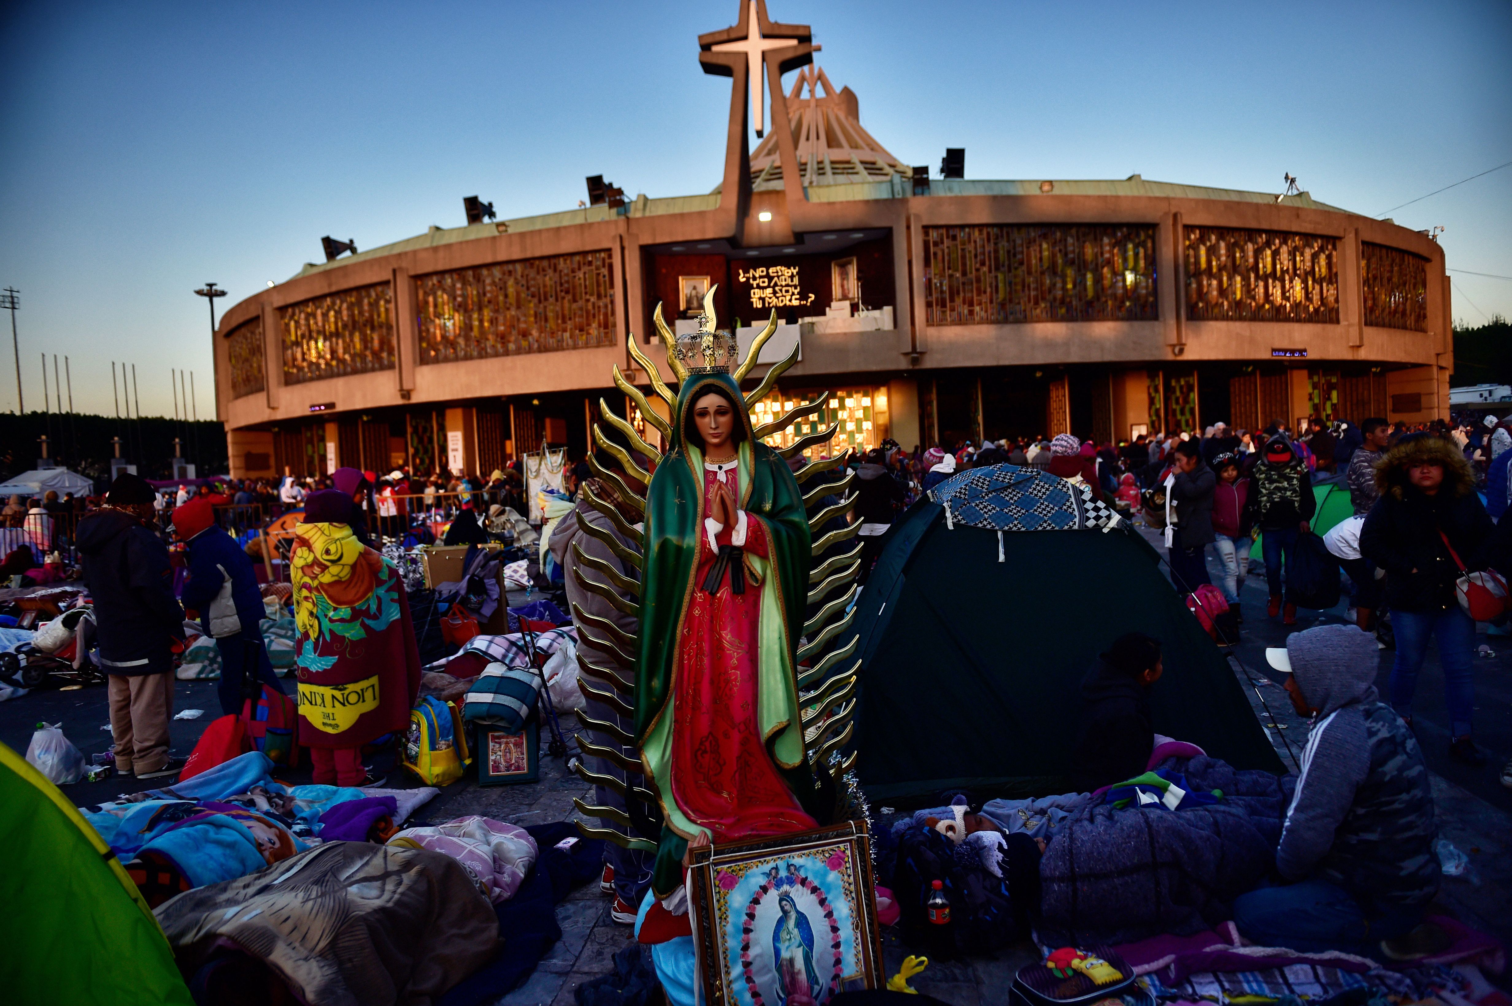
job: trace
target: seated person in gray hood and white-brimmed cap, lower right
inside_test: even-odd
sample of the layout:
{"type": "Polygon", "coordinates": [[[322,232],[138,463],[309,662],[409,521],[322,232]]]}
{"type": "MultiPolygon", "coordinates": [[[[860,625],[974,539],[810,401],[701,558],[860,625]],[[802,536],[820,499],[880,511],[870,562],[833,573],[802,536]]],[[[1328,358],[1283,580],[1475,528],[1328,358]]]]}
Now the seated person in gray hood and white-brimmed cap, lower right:
{"type": "Polygon", "coordinates": [[[1241,894],[1234,923],[1261,946],[1411,958],[1429,940],[1438,826],[1417,739],[1376,692],[1376,640],[1320,625],[1266,657],[1315,725],[1276,849],[1287,884],[1241,894]]]}

